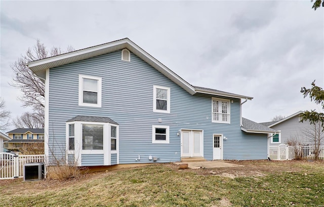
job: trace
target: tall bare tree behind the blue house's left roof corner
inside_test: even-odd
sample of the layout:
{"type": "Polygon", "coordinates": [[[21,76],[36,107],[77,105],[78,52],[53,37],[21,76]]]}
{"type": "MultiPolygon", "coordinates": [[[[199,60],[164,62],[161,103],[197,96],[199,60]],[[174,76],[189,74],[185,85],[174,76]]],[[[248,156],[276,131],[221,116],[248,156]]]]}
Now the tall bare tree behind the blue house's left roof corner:
{"type": "MultiPolygon", "coordinates": [[[[46,46],[41,43],[39,39],[37,39],[36,45],[29,48],[24,56],[22,55],[15,63],[11,65],[15,76],[13,77],[14,81],[11,82],[10,85],[19,88],[23,92],[23,95],[19,97],[19,100],[23,103],[23,107],[29,106],[35,111],[35,114],[44,114],[44,82],[36,77],[31,70],[28,69],[26,64],[31,61],[44,59],[49,56],[60,55],[62,53],[71,51],[74,51],[74,48],[71,46],[69,46],[66,51],[63,51],[60,47],[53,47],[49,51],[46,46]]],[[[41,120],[44,122],[44,117],[41,120]]]]}

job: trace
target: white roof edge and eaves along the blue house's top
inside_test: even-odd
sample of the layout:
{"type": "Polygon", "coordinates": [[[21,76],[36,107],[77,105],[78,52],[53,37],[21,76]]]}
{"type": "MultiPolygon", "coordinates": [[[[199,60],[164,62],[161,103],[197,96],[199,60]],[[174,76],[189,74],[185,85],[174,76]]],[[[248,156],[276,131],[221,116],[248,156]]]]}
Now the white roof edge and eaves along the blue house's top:
{"type": "Polygon", "coordinates": [[[171,79],[175,84],[183,88],[189,94],[193,95],[195,93],[205,93],[211,95],[219,95],[225,97],[233,97],[233,98],[243,98],[251,100],[252,97],[231,94],[227,92],[221,92],[213,89],[206,89],[201,87],[193,87],[187,81],[182,79],[179,75],[174,73],[168,67],[160,63],[150,54],[145,52],[142,48],[133,43],[129,38],[119,39],[110,43],[105,43],[98,46],[93,46],[90,48],[85,48],[41,60],[36,60],[28,63],[28,67],[31,71],[33,71],[37,76],[41,78],[46,78],[46,69],[69,64],[72,62],[92,58],[95,56],[103,55],[106,53],[118,51],[127,48],[129,51],[134,53],[136,56],[147,62],[153,68],[155,68],[160,73],[164,74],[166,77],[171,79]]]}

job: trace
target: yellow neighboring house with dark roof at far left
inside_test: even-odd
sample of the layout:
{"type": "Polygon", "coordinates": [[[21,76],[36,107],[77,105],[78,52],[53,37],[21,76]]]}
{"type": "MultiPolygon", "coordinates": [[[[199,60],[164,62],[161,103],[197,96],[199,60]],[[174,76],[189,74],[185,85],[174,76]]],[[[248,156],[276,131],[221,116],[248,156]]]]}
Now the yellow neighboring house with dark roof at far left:
{"type": "Polygon", "coordinates": [[[7,134],[11,138],[10,141],[5,142],[8,149],[20,149],[26,143],[44,143],[45,138],[44,129],[18,128],[7,134]]]}

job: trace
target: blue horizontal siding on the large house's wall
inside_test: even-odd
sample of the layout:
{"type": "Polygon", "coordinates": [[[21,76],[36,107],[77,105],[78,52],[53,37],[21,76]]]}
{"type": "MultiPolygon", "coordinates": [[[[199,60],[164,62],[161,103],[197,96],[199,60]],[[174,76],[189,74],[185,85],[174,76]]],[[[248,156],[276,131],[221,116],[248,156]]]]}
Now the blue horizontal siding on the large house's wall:
{"type": "Polygon", "coordinates": [[[179,161],[180,129],[204,131],[208,160],[213,159],[213,134],[228,137],[224,159],[267,158],[266,136],[240,130],[239,99],[230,99],[230,124],[212,123],[211,95],[190,95],[133,53],[131,62],[122,61],[116,51],[52,68],[49,84],[49,145],[57,155],[65,149],[66,120],[88,115],[108,116],[119,124],[120,164],[153,162],[149,155],[160,158],[157,162],[179,161]],[[102,107],[78,106],[79,74],[102,77],[102,107]],[[153,85],[171,88],[170,114],[153,112],[153,85]],[[152,144],[152,125],[170,126],[169,144],[152,144]]]}

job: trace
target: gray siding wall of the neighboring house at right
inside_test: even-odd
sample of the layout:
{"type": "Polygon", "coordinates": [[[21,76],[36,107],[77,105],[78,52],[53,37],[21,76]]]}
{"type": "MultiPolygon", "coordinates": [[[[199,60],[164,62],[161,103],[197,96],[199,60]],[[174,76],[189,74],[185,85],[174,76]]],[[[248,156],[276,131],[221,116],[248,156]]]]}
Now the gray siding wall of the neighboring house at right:
{"type": "MultiPolygon", "coordinates": [[[[310,125],[309,121],[299,122],[298,115],[286,121],[282,121],[271,128],[281,131],[281,144],[287,144],[288,140],[296,139],[302,144],[314,145],[311,139],[309,139],[310,133],[314,133],[313,127],[310,125]]],[[[278,144],[270,143],[270,146],[275,145],[278,144]]]]}

